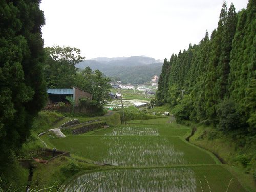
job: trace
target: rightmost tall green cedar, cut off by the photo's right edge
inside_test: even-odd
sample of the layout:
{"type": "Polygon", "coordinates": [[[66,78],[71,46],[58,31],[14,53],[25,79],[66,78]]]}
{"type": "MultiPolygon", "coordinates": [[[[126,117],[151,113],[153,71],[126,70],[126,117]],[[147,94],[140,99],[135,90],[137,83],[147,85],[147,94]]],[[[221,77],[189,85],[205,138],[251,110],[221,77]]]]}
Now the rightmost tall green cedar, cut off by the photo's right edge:
{"type": "Polygon", "coordinates": [[[249,124],[248,131],[256,132],[256,1],[250,0],[247,9],[239,14],[230,61],[229,94],[238,103],[238,110],[249,124]]]}

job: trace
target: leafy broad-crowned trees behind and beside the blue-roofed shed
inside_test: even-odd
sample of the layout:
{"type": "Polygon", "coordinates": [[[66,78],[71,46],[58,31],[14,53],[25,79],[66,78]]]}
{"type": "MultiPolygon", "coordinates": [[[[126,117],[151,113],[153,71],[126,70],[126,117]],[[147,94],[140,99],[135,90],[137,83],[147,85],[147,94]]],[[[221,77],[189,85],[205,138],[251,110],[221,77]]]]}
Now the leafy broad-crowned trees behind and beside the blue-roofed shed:
{"type": "Polygon", "coordinates": [[[101,105],[110,100],[110,78],[99,70],[90,67],[78,70],[75,65],[81,62],[81,51],[73,47],[47,47],[44,75],[48,88],[72,88],[76,86],[92,94],[91,104],[101,105]]]}

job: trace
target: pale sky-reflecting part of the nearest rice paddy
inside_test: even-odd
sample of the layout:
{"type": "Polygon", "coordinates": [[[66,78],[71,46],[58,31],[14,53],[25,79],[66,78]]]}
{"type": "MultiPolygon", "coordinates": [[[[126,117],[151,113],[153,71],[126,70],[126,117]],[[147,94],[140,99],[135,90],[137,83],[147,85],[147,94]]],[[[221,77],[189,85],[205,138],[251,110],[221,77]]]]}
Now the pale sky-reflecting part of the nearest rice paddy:
{"type": "Polygon", "coordinates": [[[194,175],[190,168],[108,170],[80,176],[66,191],[194,192],[194,175]]]}

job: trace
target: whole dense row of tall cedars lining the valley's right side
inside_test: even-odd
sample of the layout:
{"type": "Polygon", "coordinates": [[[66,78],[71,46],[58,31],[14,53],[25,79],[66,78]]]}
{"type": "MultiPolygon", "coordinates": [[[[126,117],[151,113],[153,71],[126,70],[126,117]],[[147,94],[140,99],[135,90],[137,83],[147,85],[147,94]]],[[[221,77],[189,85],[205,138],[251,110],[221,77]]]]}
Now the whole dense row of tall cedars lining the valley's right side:
{"type": "Polygon", "coordinates": [[[255,134],[255,5],[250,0],[236,13],[224,1],[210,39],[206,32],[198,45],[164,60],[157,99],[173,106],[178,121],[255,134]]]}

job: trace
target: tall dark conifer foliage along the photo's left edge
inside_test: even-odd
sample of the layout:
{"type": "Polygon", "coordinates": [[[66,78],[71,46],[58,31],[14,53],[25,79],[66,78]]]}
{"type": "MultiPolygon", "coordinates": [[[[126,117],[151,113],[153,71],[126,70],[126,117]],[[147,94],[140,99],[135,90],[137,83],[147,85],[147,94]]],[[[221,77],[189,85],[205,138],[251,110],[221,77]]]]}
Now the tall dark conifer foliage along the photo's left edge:
{"type": "Polygon", "coordinates": [[[10,154],[30,135],[33,118],[46,99],[41,73],[44,62],[41,26],[45,18],[39,2],[0,3],[0,175],[4,180],[7,179],[2,175],[4,169],[13,163],[10,154]]]}

